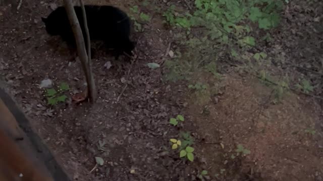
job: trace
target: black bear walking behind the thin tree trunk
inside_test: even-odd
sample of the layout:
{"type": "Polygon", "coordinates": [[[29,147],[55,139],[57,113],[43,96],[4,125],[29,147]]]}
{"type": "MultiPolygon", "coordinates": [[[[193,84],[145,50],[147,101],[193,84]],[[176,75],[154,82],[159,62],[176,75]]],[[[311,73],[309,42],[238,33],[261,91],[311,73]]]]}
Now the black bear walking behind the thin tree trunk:
{"type": "MultiPolygon", "coordinates": [[[[82,9],[74,7],[79,20],[86,44],[85,28],[82,9]]],[[[91,40],[102,40],[107,48],[116,50],[116,59],[123,52],[132,55],[134,43],[130,41],[130,19],[120,9],[112,6],[90,6],[85,5],[87,26],[91,40]]],[[[45,24],[46,31],[50,35],[60,35],[69,45],[76,46],[74,34],[65,10],[65,7],[58,7],[51,12],[47,18],[41,18],[45,24]]]]}

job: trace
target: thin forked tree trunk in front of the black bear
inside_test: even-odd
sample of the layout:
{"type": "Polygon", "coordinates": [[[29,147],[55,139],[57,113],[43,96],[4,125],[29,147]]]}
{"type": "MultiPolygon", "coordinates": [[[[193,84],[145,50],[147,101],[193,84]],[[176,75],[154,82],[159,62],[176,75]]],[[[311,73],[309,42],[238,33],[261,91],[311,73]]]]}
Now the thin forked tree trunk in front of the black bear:
{"type": "MultiPolygon", "coordinates": [[[[80,0],[80,3],[81,3],[81,7],[82,7],[82,5],[84,5],[82,0],[80,0]]],[[[74,6],[73,6],[72,1],[71,0],[64,0],[64,4],[65,4],[65,9],[66,9],[73,33],[74,33],[76,47],[77,47],[77,54],[80,58],[82,68],[85,73],[85,78],[86,78],[86,83],[87,83],[87,96],[88,96],[90,102],[94,103],[96,100],[96,89],[95,89],[94,77],[93,77],[92,67],[91,67],[91,58],[90,58],[91,53],[89,53],[89,56],[86,53],[82,30],[81,30],[79,21],[77,19],[76,13],[74,11],[74,6]]],[[[83,10],[84,10],[84,6],[82,7],[82,11],[83,10]]],[[[86,33],[87,33],[88,50],[90,52],[90,50],[91,50],[91,47],[89,46],[90,37],[89,37],[89,33],[88,33],[88,28],[87,28],[85,10],[83,11],[83,13],[84,13],[83,19],[85,19],[84,26],[86,28],[86,33]]]]}

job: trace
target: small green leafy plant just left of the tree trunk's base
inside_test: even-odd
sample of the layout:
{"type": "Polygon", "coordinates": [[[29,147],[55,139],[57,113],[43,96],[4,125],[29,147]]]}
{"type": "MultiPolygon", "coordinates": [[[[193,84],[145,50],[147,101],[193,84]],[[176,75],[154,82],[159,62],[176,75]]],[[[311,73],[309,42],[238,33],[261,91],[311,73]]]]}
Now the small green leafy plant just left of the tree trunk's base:
{"type": "Polygon", "coordinates": [[[45,97],[47,99],[47,104],[50,106],[54,106],[60,102],[64,103],[67,99],[67,96],[63,93],[69,90],[69,85],[65,82],[62,82],[58,86],[58,91],[54,88],[47,88],[45,97]]]}

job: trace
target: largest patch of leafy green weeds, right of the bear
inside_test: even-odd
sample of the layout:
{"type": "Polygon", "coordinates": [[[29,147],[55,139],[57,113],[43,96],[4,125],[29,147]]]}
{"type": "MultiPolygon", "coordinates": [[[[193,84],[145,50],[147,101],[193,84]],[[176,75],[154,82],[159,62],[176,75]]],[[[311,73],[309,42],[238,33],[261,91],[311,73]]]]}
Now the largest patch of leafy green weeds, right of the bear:
{"type": "Polygon", "coordinates": [[[192,12],[176,12],[176,6],[172,5],[163,14],[167,23],[182,30],[175,35],[182,49],[175,51],[176,56],[170,60],[171,63],[166,63],[168,79],[187,79],[192,72],[190,70],[205,70],[217,76],[217,59],[225,51],[240,61],[267,58],[265,52],[252,55],[246,52],[256,46],[257,41],[270,40],[268,33],[257,40],[252,36],[253,32],[277,27],[284,1],[195,0],[194,4],[192,12]],[[184,49],[185,53],[181,54],[184,49]]]}

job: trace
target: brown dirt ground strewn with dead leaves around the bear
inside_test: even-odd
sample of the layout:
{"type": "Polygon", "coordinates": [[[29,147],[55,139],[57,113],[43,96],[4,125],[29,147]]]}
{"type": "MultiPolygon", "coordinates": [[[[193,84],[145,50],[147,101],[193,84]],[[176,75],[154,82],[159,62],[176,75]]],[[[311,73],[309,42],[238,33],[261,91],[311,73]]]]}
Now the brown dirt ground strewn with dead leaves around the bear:
{"type": "MultiPolygon", "coordinates": [[[[135,1],[86,3],[115,5],[127,12],[136,5],[135,1]]],[[[72,103],[72,95],[86,88],[81,65],[71,61],[74,57],[66,51],[67,46],[60,38],[48,36],[41,22],[57,5],[59,1],[23,1],[17,11],[18,4],[0,1],[0,74],[34,129],[73,179],[199,180],[197,175],[205,169],[209,180],[323,180],[323,113],[318,99],[289,93],[280,104],[272,104],[270,87],[235,71],[224,73],[221,80],[197,76],[202,82],[217,82],[220,90],[203,100],[188,91],[185,82],[163,81],[163,69],[146,65],[162,64],[172,41],[170,31],[163,28],[163,17],[154,10],[147,12],[152,20],[144,25],[145,31],[132,37],[137,41],[135,61],[115,61],[97,53],[93,72],[99,99],[94,105],[72,103]],[[107,61],[112,63],[110,69],[104,67],[107,61]],[[55,85],[69,84],[66,104],[47,105],[44,90],[39,88],[45,78],[55,85]],[[183,129],[195,140],[192,163],[180,159],[170,147],[169,139],[177,138],[179,130],[168,123],[178,114],[185,117],[183,129]],[[99,142],[103,146],[98,146],[99,142]],[[238,144],[250,154],[233,158],[238,144]],[[90,172],[95,156],[102,157],[104,165],[90,172]]],[[[302,49],[300,42],[311,35],[308,43],[316,49],[310,49],[308,57],[323,59],[322,53],[317,53],[322,50],[322,39],[314,36],[321,33],[308,28],[316,26],[317,20],[297,23],[298,16],[315,17],[322,7],[291,3],[284,23],[303,33],[295,36],[286,26],[280,27],[273,54],[283,55],[287,63],[303,63],[296,58],[308,49],[302,49]],[[295,47],[299,51],[290,51],[295,47]]],[[[307,69],[316,71],[320,66],[323,64],[307,69]]],[[[303,66],[288,72],[302,74],[304,68],[299,67],[303,66]]],[[[322,76],[312,81],[320,80],[322,76]]],[[[322,96],[321,92],[316,96],[322,96]]]]}

